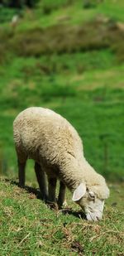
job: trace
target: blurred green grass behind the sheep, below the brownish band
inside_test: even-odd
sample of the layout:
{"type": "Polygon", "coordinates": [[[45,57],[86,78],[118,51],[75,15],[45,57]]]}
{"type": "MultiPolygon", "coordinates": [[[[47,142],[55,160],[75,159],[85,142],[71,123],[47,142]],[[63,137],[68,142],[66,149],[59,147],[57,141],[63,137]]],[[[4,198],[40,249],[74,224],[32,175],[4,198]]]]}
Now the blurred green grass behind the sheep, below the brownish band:
{"type": "Polygon", "coordinates": [[[124,66],[113,66],[114,61],[112,53],[104,50],[40,59],[17,57],[11,66],[9,62],[1,66],[2,174],[17,175],[13,119],[21,109],[38,105],[69,119],[93,167],[111,181],[123,181],[124,66]],[[85,69],[79,70],[79,65],[85,69]]]}

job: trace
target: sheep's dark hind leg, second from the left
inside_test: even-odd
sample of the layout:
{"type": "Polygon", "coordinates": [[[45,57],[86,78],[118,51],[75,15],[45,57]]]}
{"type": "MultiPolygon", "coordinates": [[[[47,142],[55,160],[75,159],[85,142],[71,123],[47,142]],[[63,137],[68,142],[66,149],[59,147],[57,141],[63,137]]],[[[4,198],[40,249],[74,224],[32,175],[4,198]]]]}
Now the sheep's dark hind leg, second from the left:
{"type": "Polygon", "coordinates": [[[38,162],[35,162],[35,171],[36,171],[36,178],[41,191],[41,199],[47,200],[47,186],[46,186],[45,171],[41,169],[41,165],[38,162]]]}

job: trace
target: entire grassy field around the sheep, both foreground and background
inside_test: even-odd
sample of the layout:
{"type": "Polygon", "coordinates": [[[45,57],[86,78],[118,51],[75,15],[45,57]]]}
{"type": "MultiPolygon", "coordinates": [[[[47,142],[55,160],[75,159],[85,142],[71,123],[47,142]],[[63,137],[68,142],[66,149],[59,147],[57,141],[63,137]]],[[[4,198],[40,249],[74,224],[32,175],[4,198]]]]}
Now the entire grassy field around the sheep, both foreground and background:
{"type": "Polygon", "coordinates": [[[2,256],[124,255],[124,2],[84,2],[0,7],[2,256]],[[12,123],[30,106],[54,109],[79,132],[85,157],[111,191],[103,220],[86,221],[69,192],[68,209],[50,210],[39,200],[32,161],[26,184],[35,189],[17,186],[12,123]]]}

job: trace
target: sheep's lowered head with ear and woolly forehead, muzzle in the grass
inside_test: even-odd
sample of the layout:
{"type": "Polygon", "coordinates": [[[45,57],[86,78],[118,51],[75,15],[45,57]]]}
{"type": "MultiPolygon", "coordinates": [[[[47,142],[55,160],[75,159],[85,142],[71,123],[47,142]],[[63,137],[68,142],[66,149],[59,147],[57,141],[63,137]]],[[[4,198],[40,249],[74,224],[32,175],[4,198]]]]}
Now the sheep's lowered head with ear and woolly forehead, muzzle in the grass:
{"type": "Polygon", "coordinates": [[[109,196],[106,183],[103,186],[87,187],[81,183],[74,191],[73,198],[83,209],[87,220],[101,220],[103,216],[104,200],[109,196]]]}

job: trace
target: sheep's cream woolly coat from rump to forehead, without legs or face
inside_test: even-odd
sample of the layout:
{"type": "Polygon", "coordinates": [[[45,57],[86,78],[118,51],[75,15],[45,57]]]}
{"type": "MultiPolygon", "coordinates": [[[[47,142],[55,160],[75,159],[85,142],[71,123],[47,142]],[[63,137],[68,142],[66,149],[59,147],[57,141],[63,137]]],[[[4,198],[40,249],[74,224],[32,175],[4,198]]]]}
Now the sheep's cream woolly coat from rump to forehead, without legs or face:
{"type": "Polygon", "coordinates": [[[57,177],[72,192],[85,182],[99,198],[107,197],[103,176],[88,164],[79,134],[60,114],[31,107],[18,114],[13,130],[20,162],[34,159],[48,176],[57,177]]]}

